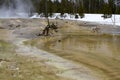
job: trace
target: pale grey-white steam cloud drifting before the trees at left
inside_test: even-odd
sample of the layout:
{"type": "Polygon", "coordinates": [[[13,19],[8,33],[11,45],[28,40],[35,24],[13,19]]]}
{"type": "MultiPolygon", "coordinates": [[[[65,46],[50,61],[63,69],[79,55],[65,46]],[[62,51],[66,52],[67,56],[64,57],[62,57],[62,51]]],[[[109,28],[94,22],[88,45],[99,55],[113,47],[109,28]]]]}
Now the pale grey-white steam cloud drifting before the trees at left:
{"type": "Polygon", "coordinates": [[[27,18],[33,11],[31,0],[5,0],[0,7],[0,18],[27,18]]]}

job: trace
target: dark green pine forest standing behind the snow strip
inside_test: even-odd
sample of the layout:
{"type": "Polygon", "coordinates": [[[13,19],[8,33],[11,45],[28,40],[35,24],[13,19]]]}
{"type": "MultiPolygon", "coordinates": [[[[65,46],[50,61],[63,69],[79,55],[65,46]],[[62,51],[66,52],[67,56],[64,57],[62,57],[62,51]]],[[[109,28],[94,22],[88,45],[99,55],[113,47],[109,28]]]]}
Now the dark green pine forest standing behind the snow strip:
{"type": "MultiPolygon", "coordinates": [[[[11,0],[0,0],[0,5],[6,1],[11,0]]],[[[32,0],[36,12],[43,13],[45,15],[45,1],[46,0],[32,0]]],[[[114,14],[119,13],[120,14],[120,0],[108,0],[108,5],[105,4],[105,0],[47,0],[48,4],[50,5],[48,7],[49,15],[51,16],[52,13],[61,13],[61,16],[64,13],[69,14],[76,14],[76,13],[102,13],[102,14],[114,14]],[[83,6],[79,5],[79,2],[82,2],[83,6]],[[107,9],[106,9],[107,8],[107,9]],[[107,11],[105,11],[105,10],[107,11]]],[[[81,3],[80,3],[81,4],[81,3]]],[[[6,3],[7,5],[7,3],[6,3]]],[[[9,5],[9,4],[8,4],[9,5]]],[[[82,14],[81,14],[82,15],[82,14]]]]}

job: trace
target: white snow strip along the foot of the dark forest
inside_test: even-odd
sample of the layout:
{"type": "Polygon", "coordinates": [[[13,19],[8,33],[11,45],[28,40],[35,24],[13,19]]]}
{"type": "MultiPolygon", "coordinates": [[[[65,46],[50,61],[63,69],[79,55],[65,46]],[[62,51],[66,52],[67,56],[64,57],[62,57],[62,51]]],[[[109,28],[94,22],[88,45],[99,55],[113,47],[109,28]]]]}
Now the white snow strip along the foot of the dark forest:
{"type": "MultiPolygon", "coordinates": [[[[59,18],[59,19],[69,19],[69,20],[81,20],[81,21],[88,21],[88,22],[96,22],[100,24],[113,25],[114,17],[115,17],[115,24],[120,25],[120,15],[115,15],[115,16],[112,15],[112,18],[107,18],[107,19],[104,19],[103,17],[101,17],[102,15],[103,14],[85,14],[84,18],[79,17],[78,19],[75,19],[74,15],[64,14],[64,17],[60,17],[60,13],[55,13],[53,14],[52,17],[50,17],[50,19],[59,18]]],[[[31,18],[44,18],[44,17],[40,17],[40,15],[35,14],[31,18]]]]}

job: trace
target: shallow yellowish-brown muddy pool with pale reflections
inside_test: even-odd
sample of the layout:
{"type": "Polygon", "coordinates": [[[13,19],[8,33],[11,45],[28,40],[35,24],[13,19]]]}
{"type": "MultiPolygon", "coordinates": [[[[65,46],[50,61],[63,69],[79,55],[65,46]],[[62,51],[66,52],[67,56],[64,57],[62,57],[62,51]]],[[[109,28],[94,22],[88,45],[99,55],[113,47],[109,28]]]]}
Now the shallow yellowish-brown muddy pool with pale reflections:
{"type": "Polygon", "coordinates": [[[96,71],[104,80],[120,80],[120,37],[68,36],[44,49],[96,71]]]}

